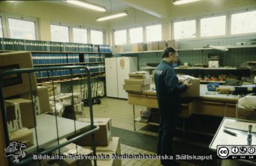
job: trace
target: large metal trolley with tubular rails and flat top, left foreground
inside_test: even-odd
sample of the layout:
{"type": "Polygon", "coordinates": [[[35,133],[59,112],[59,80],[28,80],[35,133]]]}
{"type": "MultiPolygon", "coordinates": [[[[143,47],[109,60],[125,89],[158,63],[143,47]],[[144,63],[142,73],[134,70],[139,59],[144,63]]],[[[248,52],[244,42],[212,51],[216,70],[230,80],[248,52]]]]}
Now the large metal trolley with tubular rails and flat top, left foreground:
{"type": "MultiPolygon", "coordinates": [[[[35,77],[34,77],[35,78],[35,77]]],[[[10,83],[10,82],[9,82],[10,83]]],[[[71,86],[72,87],[72,86],[71,86]]],[[[54,104],[56,103],[55,92],[53,92],[54,104]]],[[[73,89],[71,89],[72,93],[72,103],[74,103],[73,98],[73,89]]],[[[91,89],[91,78],[90,72],[86,66],[62,66],[62,67],[52,67],[52,68],[28,68],[28,69],[15,69],[8,70],[0,73],[0,96],[1,96],[1,116],[3,117],[3,133],[4,133],[4,141],[6,148],[4,149],[5,155],[8,158],[8,165],[29,165],[33,160],[33,155],[44,155],[48,153],[52,153],[52,151],[58,151],[60,153],[60,148],[67,146],[68,144],[75,142],[77,139],[81,139],[86,135],[92,135],[92,149],[93,156],[96,155],[95,152],[95,140],[94,140],[94,132],[99,130],[99,126],[95,126],[93,124],[93,110],[92,110],[92,89],[91,89]],[[91,123],[84,123],[75,121],[72,119],[66,119],[64,117],[59,117],[57,114],[49,115],[49,114],[38,114],[35,112],[35,102],[32,100],[32,110],[33,110],[33,118],[31,121],[35,121],[35,126],[30,128],[29,131],[33,132],[34,145],[27,147],[22,142],[10,142],[9,131],[8,131],[8,122],[6,117],[6,105],[4,100],[6,97],[4,96],[4,88],[6,87],[6,80],[15,76],[20,75],[26,76],[28,78],[28,87],[30,89],[30,97],[33,98],[33,74],[36,72],[46,72],[49,79],[51,79],[52,88],[54,88],[54,72],[63,71],[67,72],[66,77],[70,78],[70,84],[72,84],[72,78],[74,78],[74,73],[79,71],[81,73],[81,85],[86,82],[88,87],[88,105],[90,107],[90,120],[91,123]],[[86,76],[86,77],[85,77],[86,76]],[[83,82],[83,83],[82,83],[83,82]],[[88,132],[82,132],[82,131],[88,132]],[[77,134],[79,134],[77,136],[77,134]],[[67,138],[69,136],[76,135],[74,138],[67,140],[66,142],[60,142],[61,139],[67,138]],[[54,145],[53,145],[54,144],[54,145]]],[[[54,111],[56,112],[56,105],[54,106],[54,111]]],[[[1,131],[0,131],[1,132],[1,131]]],[[[1,139],[1,138],[0,138],[1,139]]],[[[1,152],[3,153],[3,152],[1,152]]],[[[77,146],[76,146],[77,153],[77,146]]],[[[35,162],[35,161],[34,161],[35,162]]],[[[93,160],[94,165],[97,165],[96,159],[93,160]]],[[[38,165],[42,165],[40,160],[38,165]]],[[[1,162],[2,164],[2,162],[1,162]]],[[[60,164],[61,165],[61,164],[60,164]]]]}

